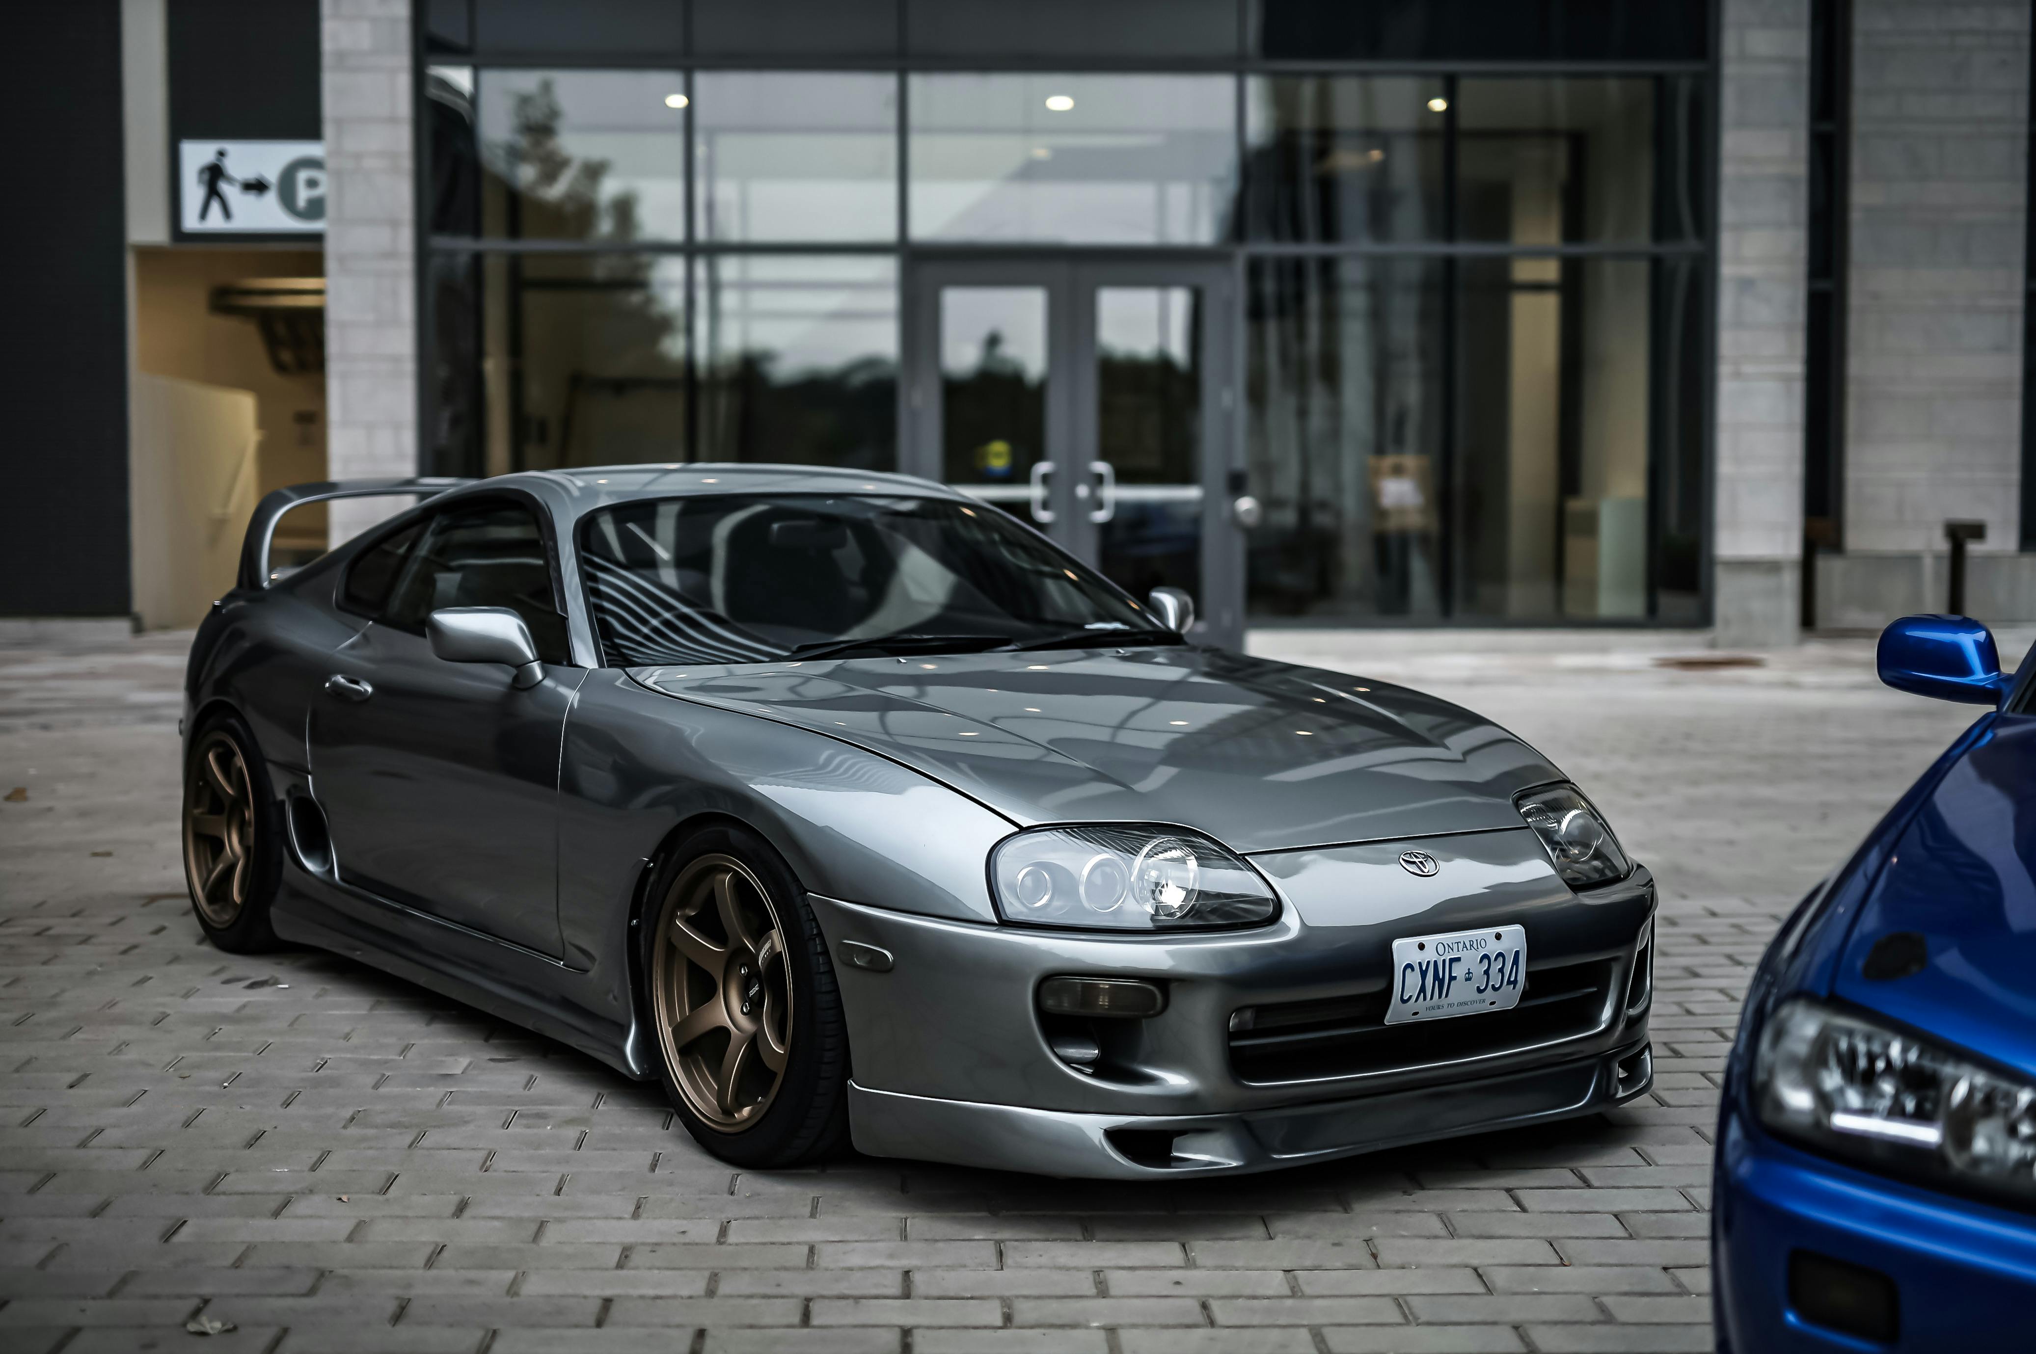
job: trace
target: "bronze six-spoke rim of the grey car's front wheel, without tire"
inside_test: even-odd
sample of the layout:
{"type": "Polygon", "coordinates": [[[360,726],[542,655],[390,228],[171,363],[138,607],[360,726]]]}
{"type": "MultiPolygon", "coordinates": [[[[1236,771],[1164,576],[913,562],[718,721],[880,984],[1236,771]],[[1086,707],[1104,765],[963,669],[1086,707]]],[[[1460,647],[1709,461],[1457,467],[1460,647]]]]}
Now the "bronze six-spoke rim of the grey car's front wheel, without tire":
{"type": "Polygon", "coordinates": [[[658,1042],[686,1108],[717,1132],[757,1124],[784,1083],[794,983],[778,906],[749,865],[713,853],[686,863],[658,908],[658,1042]]]}

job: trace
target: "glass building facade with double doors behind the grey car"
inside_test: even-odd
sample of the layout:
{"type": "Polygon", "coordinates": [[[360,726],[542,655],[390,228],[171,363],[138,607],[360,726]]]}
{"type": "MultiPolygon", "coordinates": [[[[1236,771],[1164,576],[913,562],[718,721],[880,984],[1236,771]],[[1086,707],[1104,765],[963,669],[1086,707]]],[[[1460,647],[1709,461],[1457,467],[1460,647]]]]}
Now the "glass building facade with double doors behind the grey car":
{"type": "Polygon", "coordinates": [[[1702,2],[597,8],[432,6],[430,470],[932,474],[1236,625],[1702,623],[1702,2]]]}

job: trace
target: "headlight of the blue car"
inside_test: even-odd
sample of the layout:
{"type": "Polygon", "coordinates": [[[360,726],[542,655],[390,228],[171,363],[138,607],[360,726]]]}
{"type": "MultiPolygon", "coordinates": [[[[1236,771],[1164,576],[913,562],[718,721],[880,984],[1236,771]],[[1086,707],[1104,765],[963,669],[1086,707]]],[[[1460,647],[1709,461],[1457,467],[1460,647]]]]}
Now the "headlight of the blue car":
{"type": "Polygon", "coordinates": [[[1834,1156],[2036,1205],[2036,1085],[1796,1000],[1753,1061],[1761,1124],[1834,1156]]]}

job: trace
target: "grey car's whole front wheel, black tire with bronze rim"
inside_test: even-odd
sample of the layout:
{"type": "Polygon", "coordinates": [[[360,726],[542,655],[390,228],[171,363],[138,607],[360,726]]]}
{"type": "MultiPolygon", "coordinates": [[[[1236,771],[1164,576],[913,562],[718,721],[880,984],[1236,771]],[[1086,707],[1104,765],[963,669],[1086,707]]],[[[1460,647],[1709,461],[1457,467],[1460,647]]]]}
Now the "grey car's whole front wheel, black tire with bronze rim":
{"type": "Polygon", "coordinates": [[[719,825],[686,837],[652,878],[641,930],[652,1053],[686,1132],[753,1169],[837,1150],[849,1130],[849,1034],[835,965],[806,890],[770,843],[719,825]]]}

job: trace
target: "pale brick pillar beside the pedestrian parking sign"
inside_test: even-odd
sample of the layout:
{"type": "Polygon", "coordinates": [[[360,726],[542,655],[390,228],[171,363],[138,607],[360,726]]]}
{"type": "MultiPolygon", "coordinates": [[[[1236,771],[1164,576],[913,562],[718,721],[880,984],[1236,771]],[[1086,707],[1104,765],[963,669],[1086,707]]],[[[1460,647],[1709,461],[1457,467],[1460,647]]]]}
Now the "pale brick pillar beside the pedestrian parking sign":
{"type": "MultiPolygon", "coordinates": [[[[417,472],[411,0],[320,0],[326,171],[326,464],[417,472]]],[[[332,544],[401,501],[332,505],[332,544]]]]}

